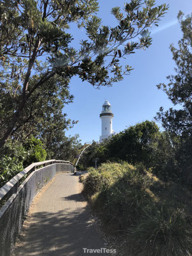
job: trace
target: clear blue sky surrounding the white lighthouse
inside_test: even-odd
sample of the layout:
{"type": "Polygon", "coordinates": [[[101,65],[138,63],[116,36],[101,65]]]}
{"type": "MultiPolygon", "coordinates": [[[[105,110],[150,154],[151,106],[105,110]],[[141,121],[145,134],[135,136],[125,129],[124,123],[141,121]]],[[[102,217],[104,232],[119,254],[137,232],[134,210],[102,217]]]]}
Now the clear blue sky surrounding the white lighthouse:
{"type": "MultiPolygon", "coordinates": [[[[111,15],[111,8],[124,6],[122,0],[99,0],[99,17],[104,25],[116,26],[111,15]]],[[[99,141],[101,133],[100,111],[104,100],[109,100],[114,113],[113,129],[123,131],[126,127],[145,120],[154,120],[160,106],[164,109],[172,107],[166,94],[157,90],[156,84],[166,83],[166,76],[173,74],[175,63],[172,60],[170,44],[177,46],[182,37],[177,14],[182,10],[186,15],[192,12],[191,0],[156,1],[157,4],[170,5],[168,13],[159,22],[159,27],[152,27],[152,45],[146,51],[136,51],[126,59],[126,63],[134,68],[123,81],[112,87],[93,88],[89,83],[73,77],[70,82],[70,93],[74,102],[63,108],[68,118],[79,120],[74,128],[66,132],[67,136],[79,134],[82,143],[99,141]]],[[[73,28],[72,28],[73,32],[73,28]]],[[[79,40],[86,38],[84,29],[74,29],[73,45],[78,47],[79,40]]],[[[161,125],[161,124],[158,124],[161,125]]]]}

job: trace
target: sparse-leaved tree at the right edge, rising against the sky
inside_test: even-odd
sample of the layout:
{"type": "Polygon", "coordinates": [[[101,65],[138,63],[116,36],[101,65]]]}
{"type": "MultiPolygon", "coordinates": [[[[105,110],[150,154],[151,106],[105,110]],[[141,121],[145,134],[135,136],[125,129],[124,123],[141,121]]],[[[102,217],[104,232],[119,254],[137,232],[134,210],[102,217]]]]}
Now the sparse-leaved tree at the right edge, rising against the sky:
{"type": "Polygon", "coordinates": [[[173,45],[170,49],[175,61],[175,74],[168,76],[168,84],[159,84],[174,105],[179,104],[180,109],[170,108],[164,111],[159,109],[156,119],[161,120],[164,129],[170,133],[172,138],[177,138],[177,150],[175,159],[180,177],[186,177],[184,173],[191,172],[192,167],[192,15],[184,18],[179,12],[178,19],[182,30],[182,38],[179,40],[179,48],[173,45]]]}

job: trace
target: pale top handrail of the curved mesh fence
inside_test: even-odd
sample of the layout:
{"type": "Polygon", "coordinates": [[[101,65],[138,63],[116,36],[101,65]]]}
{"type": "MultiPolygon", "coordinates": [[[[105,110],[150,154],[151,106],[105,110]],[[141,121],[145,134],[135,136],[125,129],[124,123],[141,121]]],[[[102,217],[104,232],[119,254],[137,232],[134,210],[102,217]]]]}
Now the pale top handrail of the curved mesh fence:
{"type": "MultiPolygon", "coordinates": [[[[72,164],[69,161],[63,161],[63,160],[56,160],[56,159],[51,159],[43,162],[37,162],[30,164],[28,167],[26,167],[24,170],[21,172],[17,173],[12,179],[10,179],[6,184],[4,184],[3,187],[0,188],[0,201],[6,196],[6,194],[14,187],[19,185],[19,180],[24,177],[27,173],[29,173],[31,170],[35,171],[35,168],[41,165],[46,165],[48,163],[54,164],[54,163],[68,163],[72,164]]],[[[73,165],[73,164],[72,164],[73,165]]]]}

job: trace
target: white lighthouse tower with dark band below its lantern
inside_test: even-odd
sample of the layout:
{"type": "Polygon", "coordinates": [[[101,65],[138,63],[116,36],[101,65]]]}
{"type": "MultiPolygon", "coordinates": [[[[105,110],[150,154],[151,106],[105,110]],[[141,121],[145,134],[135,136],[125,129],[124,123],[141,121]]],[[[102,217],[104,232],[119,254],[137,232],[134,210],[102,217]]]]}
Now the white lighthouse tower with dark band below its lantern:
{"type": "Polygon", "coordinates": [[[114,115],[111,111],[111,104],[106,100],[104,104],[102,105],[102,112],[100,113],[100,119],[101,119],[101,136],[100,136],[100,142],[102,142],[105,139],[108,139],[109,136],[112,136],[115,134],[112,127],[112,119],[114,115]]]}

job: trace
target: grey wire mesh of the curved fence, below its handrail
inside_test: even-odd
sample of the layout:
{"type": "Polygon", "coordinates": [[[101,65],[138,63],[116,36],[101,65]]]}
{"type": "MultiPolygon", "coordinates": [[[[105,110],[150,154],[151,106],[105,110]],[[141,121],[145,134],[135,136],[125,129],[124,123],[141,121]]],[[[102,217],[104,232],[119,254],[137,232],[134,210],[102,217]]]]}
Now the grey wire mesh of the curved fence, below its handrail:
{"type": "Polygon", "coordinates": [[[32,172],[0,209],[0,256],[10,256],[33,198],[56,173],[74,172],[71,163],[53,163],[32,172]]]}

